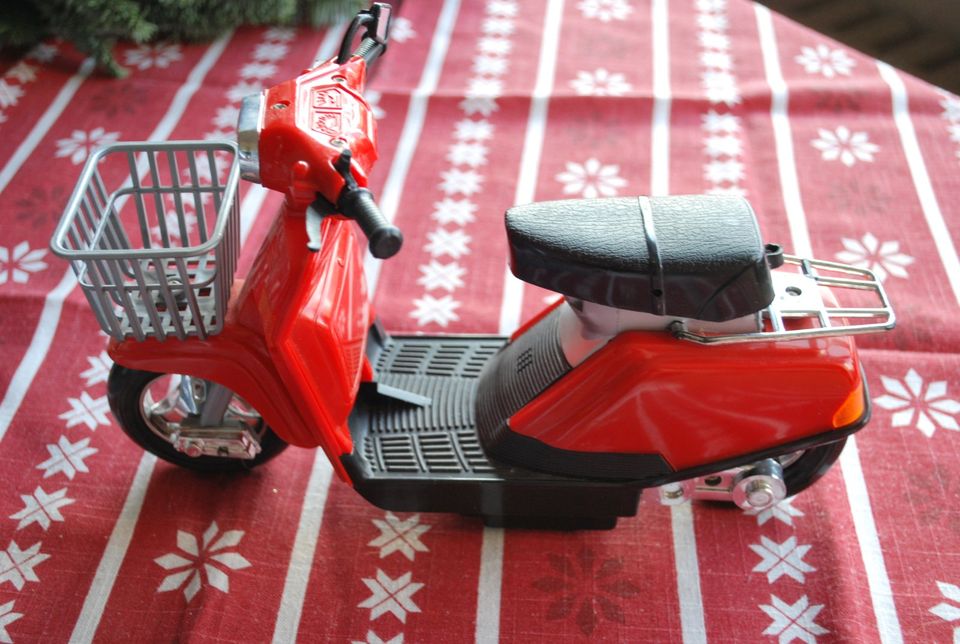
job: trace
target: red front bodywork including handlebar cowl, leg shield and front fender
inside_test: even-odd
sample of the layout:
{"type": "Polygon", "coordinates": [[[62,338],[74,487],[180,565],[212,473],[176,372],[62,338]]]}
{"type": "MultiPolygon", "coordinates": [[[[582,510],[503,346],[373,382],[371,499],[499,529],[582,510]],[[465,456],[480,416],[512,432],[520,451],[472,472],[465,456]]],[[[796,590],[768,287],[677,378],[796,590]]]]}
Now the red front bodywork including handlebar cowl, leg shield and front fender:
{"type": "Polygon", "coordinates": [[[370,306],[354,224],[327,216],[321,248],[307,250],[304,211],[336,203],[345,149],[365,186],[377,158],[376,124],[363,100],[366,63],[328,61],[266,90],[259,136],[261,183],[286,195],[250,278],[235,285],[223,331],[198,340],[113,342],[127,367],[213,380],[254,406],[280,438],[320,446],[347,479],[340,456],[353,442],[347,417],[365,364],[370,306]]]}

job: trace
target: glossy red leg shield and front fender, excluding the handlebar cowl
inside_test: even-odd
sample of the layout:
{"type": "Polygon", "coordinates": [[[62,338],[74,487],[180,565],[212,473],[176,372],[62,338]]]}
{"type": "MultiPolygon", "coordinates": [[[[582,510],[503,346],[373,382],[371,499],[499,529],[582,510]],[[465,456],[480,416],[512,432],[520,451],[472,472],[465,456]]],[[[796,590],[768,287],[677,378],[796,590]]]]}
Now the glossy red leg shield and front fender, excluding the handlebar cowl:
{"type": "MultiPolygon", "coordinates": [[[[199,340],[112,342],[127,367],[219,382],[253,405],[285,441],[320,446],[346,479],[347,417],[364,370],[370,309],[352,222],[324,220],[306,249],[302,213],[274,222],[248,279],[235,286],[223,331],[199,340]]],[[[369,369],[369,365],[367,365],[369,369]]]]}

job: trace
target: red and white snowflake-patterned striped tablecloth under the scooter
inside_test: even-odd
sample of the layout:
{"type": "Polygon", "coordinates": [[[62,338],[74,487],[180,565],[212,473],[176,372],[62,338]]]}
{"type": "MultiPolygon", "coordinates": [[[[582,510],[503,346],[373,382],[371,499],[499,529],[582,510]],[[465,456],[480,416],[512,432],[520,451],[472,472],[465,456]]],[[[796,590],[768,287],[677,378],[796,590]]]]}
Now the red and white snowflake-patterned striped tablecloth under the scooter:
{"type": "MultiPolygon", "coordinates": [[[[869,266],[894,333],[859,341],[873,422],[754,516],[641,505],[607,532],[385,513],[289,449],[245,476],[144,456],[50,234],[92,146],[229,135],[238,101],[339,30],[69,46],[0,80],[0,642],[960,641],[960,99],[744,0],[407,2],[371,85],[373,188],[407,242],[388,328],[509,331],[505,208],[745,194],[766,239],[869,266]]],[[[279,199],[244,188],[254,247],[279,199]]]]}

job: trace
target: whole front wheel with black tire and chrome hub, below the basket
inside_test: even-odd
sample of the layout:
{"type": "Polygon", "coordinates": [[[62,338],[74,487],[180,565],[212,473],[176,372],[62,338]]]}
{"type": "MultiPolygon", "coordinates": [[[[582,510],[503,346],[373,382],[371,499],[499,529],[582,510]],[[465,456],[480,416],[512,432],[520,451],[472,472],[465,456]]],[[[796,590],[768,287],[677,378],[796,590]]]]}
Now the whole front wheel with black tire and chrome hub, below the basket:
{"type": "Polygon", "coordinates": [[[200,378],[115,364],[107,392],[127,436],[175,465],[204,472],[246,470],[287,447],[240,396],[200,378]]]}

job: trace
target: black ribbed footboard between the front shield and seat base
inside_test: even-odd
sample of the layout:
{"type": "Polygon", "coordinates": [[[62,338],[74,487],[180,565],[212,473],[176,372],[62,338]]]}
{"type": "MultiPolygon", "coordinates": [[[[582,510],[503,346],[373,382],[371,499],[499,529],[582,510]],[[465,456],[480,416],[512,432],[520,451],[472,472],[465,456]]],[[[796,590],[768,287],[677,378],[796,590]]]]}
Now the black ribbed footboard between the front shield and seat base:
{"type": "Polygon", "coordinates": [[[354,486],[398,511],[477,515],[491,525],[612,527],[636,513],[639,489],[503,466],[480,446],[479,377],[504,345],[495,336],[389,337],[371,329],[377,380],[350,416],[354,486]]]}

